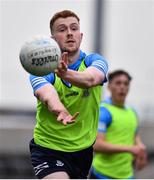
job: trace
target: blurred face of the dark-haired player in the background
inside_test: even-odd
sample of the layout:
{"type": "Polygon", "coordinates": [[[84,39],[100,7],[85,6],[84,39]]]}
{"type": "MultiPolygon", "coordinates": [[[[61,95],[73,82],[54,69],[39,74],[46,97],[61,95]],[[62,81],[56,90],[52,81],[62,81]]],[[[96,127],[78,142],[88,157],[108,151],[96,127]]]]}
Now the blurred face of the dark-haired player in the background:
{"type": "Polygon", "coordinates": [[[129,84],[130,82],[126,75],[114,77],[109,84],[112,98],[118,102],[124,102],[129,91],[129,84]]]}

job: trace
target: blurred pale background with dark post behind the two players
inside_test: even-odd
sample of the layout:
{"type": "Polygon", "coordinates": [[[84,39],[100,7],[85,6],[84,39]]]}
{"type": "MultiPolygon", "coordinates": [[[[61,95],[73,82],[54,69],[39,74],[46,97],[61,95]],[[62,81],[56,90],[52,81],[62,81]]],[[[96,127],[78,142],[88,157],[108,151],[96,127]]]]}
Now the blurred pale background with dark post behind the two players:
{"type": "MultiPolygon", "coordinates": [[[[127,103],[140,117],[139,132],[148,150],[148,166],[136,178],[154,178],[154,1],[153,0],[0,0],[0,178],[35,178],[29,141],[36,99],[19,61],[23,43],[50,35],[52,15],[63,9],[81,19],[87,53],[102,54],[109,70],[132,77],[127,103]]],[[[105,86],[103,97],[108,95],[105,86]]]]}

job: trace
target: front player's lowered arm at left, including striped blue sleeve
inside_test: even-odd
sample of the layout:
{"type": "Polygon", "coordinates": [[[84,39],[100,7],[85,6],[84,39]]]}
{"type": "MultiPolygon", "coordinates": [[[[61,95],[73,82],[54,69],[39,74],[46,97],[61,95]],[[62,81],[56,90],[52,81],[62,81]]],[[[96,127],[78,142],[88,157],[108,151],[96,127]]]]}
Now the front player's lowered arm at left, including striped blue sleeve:
{"type": "Polygon", "coordinates": [[[54,86],[48,82],[48,77],[30,77],[34,95],[42,103],[44,103],[48,110],[57,116],[57,121],[61,121],[64,125],[73,123],[78,113],[73,116],[69,114],[59,99],[58,93],[54,86]]]}

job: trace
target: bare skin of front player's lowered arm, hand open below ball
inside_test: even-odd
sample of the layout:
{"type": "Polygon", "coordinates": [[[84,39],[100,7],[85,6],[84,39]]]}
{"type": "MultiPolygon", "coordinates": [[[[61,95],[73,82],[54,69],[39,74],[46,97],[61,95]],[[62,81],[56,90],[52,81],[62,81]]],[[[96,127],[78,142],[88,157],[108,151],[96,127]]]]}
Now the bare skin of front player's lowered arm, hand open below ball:
{"type": "Polygon", "coordinates": [[[57,120],[62,121],[64,125],[75,121],[78,113],[76,113],[74,116],[69,114],[67,109],[60,101],[53,85],[45,84],[44,86],[40,87],[35,91],[35,96],[48,107],[49,111],[57,115],[57,120]]]}

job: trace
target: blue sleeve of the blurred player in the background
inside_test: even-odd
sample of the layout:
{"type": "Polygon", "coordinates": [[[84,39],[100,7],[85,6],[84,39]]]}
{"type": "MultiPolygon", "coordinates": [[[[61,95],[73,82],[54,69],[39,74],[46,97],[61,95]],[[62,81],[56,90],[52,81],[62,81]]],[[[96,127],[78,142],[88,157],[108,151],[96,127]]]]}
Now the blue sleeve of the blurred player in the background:
{"type": "Polygon", "coordinates": [[[105,107],[100,107],[100,116],[99,116],[99,123],[98,123],[98,132],[105,133],[107,127],[112,122],[112,116],[110,112],[105,107]]]}

